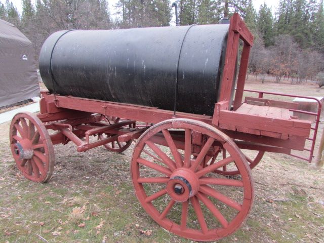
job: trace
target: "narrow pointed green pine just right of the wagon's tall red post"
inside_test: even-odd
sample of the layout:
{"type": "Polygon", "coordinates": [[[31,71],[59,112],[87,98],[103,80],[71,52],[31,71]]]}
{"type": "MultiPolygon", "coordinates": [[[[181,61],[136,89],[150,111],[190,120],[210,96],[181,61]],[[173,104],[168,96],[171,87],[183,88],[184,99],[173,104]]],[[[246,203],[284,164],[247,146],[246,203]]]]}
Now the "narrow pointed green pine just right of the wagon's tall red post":
{"type": "Polygon", "coordinates": [[[271,9],[265,3],[260,6],[257,23],[265,47],[271,46],[273,44],[273,17],[271,9]]]}

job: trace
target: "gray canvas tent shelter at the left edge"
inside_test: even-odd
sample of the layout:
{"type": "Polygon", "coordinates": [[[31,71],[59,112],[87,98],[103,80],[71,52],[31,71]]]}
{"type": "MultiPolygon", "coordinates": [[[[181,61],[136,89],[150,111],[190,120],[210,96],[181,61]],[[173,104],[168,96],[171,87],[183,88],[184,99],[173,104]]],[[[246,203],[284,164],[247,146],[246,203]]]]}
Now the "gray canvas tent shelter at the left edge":
{"type": "Polygon", "coordinates": [[[0,20],[0,107],[38,95],[31,42],[15,25],[0,20]]]}

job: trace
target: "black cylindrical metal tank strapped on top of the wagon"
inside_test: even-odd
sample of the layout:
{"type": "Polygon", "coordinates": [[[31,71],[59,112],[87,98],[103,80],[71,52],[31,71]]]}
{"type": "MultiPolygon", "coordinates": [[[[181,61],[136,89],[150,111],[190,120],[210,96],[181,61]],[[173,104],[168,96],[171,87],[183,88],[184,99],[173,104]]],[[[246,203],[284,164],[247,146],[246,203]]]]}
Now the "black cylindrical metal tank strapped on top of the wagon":
{"type": "Polygon", "coordinates": [[[228,28],[58,31],[44,43],[39,69],[52,93],[211,115],[228,28]]]}

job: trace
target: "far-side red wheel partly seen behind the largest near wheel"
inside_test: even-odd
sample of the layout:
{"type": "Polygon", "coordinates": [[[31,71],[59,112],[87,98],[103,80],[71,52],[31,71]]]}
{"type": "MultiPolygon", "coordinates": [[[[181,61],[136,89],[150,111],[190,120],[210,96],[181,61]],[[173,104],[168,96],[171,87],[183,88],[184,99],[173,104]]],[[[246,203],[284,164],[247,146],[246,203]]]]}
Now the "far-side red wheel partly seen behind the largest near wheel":
{"type": "MultiPolygon", "coordinates": [[[[255,168],[259,162],[261,161],[264,151],[257,151],[257,150],[248,150],[248,149],[241,149],[241,152],[244,154],[248,161],[248,165],[250,169],[252,170],[255,168]]],[[[224,147],[220,147],[218,151],[216,151],[215,155],[212,158],[208,158],[206,161],[206,164],[213,164],[217,159],[220,158],[226,158],[229,156],[229,153],[226,151],[224,147]]],[[[238,169],[236,168],[235,163],[229,163],[226,166],[223,166],[217,170],[215,170],[216,173],[225,175],[225,176],[235,176],[239,174],[238,169]]]]}

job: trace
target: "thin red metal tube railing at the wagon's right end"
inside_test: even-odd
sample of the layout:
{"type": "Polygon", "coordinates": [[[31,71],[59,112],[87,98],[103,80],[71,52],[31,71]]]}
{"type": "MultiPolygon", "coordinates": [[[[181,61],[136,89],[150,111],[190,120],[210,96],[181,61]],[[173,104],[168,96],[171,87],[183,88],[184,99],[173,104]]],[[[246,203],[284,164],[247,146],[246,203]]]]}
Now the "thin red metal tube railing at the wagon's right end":
{"type": "Polygon", "coordinates": [[[245,92],[251,92],[251,93],[257,93],[258,98],[264,98],[264,95],[274,95],[274,96],[285,96],[285,97],[292,97],[292,98],[304,98],[304,99],[309,99],[309,100],[314,100],[317,102],[317,111],[316,112],[310,112],[310,111],[305,111],[305,110],[300,110],[300,109],[289,109],[290,111],[293,111],[295,113],[301,113],[301,114],[308,114],[311,116],[315,117],[315,123],[314,125],[311,126],[311,130],[313,132],[310,133],[310,136],[306,138],[306,140],[310,141],[311,146],[309,147],[309,143],[305,144],[304,150],[309,152],[309,156],[301,156],[293,153],[288,153],[288,155],[303,159],[308,161],[308,163],[311,163],[313,159],[313,154],[314,154],[314,148],[315,148],[315,142],[316,142],[316,136],[317,136],[317,131],[318,131],[318,125],[319,125],[319,119],[320,119],[320,112],[322,108],[322,103],[320,102],[319,99],[315,97],[309,97],[309,96],[300,96],[300,95],[290,95],[290,94],[283,94],[283,93],[275,93],[275,92],[265,92],[265,91],[257,91],[257,90],[244,90],[245,92]]]}

